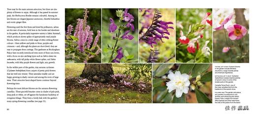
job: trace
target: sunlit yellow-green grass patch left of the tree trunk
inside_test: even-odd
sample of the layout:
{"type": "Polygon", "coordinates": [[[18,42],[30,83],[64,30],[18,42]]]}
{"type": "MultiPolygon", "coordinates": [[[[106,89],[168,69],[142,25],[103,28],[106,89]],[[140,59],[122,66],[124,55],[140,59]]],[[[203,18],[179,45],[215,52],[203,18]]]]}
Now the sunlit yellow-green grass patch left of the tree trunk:
{"type": "Polygon", "coordinates": [[[84,69],[83,63],[66,63],[65,78],[79,77],[84,69]]]}

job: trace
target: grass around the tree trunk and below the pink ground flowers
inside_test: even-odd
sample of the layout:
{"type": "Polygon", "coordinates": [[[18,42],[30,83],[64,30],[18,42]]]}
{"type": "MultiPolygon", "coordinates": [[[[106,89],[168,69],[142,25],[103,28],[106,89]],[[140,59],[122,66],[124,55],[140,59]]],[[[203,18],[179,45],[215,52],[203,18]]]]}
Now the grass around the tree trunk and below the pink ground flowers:
{"type": "MultiPolygon", "coordinates": [[[[127,65],[112,64],[112,67],[114,74],[122,74],[127,65]]],[[[83,68],[83,63],[65,64],[65,103],[151,103],[151,92],[107,86],[111,84],[93,83],[99,85],[96,88],[79,84],[77,80],[82,80],[79,76],[83,68]]],[[[147,83],[147,88],[149,87],[151,91],[151,84],[147,83]]]]}

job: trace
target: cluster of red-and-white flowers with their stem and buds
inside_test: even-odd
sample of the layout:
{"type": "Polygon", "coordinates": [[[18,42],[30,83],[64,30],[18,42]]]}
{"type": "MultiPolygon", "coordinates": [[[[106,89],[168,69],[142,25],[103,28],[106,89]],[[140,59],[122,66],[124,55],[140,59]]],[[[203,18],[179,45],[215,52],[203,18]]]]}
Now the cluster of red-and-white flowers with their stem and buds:
{"type": "MultiPolygon", "coordinates": [[[[207,12],[205,14],[205,16],[203,17],[203,19],[201,20],[200,24],[196,24],[194,25],[194,27],[192,28],[191,26],[189,27],[189,31],[188,34],[185,36],[183,31],[180,30],[180,38],[178,39],[179,42],[183,45],[188,45],[187,46],[187,51],[189,53],[195,53],[196,50],[200,49],[200,44],[199,44],[199,39],[203,38],[203,34],[201,33],[202,30],[205,28],[206,23],[208,23],[210,26],[212,26],[212,20],[208,20],[207,18],[211,15],[210,12],[207,12]],[[190,39],[190,37],[195,37],[190,39]],[[196,45],[195,45],[196,43],[196,45]]],[[[212,51],[210,50],[209,47],[207,47],[207,44],[209,43],[209,41],[205,42],[205,45],[203,46],[203,48],[201,49],[201,52],[205,55],[205,56],[209,56],[210,53],[212,53],[212,51]]]]}

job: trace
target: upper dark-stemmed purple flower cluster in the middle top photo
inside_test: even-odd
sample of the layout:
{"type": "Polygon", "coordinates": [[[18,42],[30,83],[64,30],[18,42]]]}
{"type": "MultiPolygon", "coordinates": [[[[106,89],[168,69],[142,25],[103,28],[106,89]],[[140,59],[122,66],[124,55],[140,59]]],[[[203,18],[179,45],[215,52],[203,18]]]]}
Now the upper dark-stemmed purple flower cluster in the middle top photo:
{"type": "MultiPolygon", "coordinates": [[[[145,12],[148,11],[150,10],[146,10],[145,12]]],[[[150,17],[150,14],[147,16],[150,17]]],[[[141,32],[141,37],[139,38],[140,42],[144,41],[147,44],[151,45],[151,47],[153,47],[153,44],[157,44],[157,41],[163,42],[162,38],[169,39],[169,37],[165,34],[170,35],[168,28],[174,29],[173,27],[169,26],[173,23],[162,21],[160,20],[161,17],[162,15],[159,10],[156,10],[153,16],[152,24],[148,27],[148,22],[143,23],[143,28],[146,28],[147,31],[145,33],[141,32]]]]}

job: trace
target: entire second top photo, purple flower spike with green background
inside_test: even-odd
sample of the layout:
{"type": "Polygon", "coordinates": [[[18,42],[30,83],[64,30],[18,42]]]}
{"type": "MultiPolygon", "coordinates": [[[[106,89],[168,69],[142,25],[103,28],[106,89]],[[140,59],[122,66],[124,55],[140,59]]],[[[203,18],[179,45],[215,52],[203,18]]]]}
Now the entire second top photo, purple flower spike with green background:
{"type": "Polygon", "coordinates": [[[138,62],[138,9],[102,9],[102,62],[138,62]],[[126,16],[133,17],[127,19],[126,16]]]}

